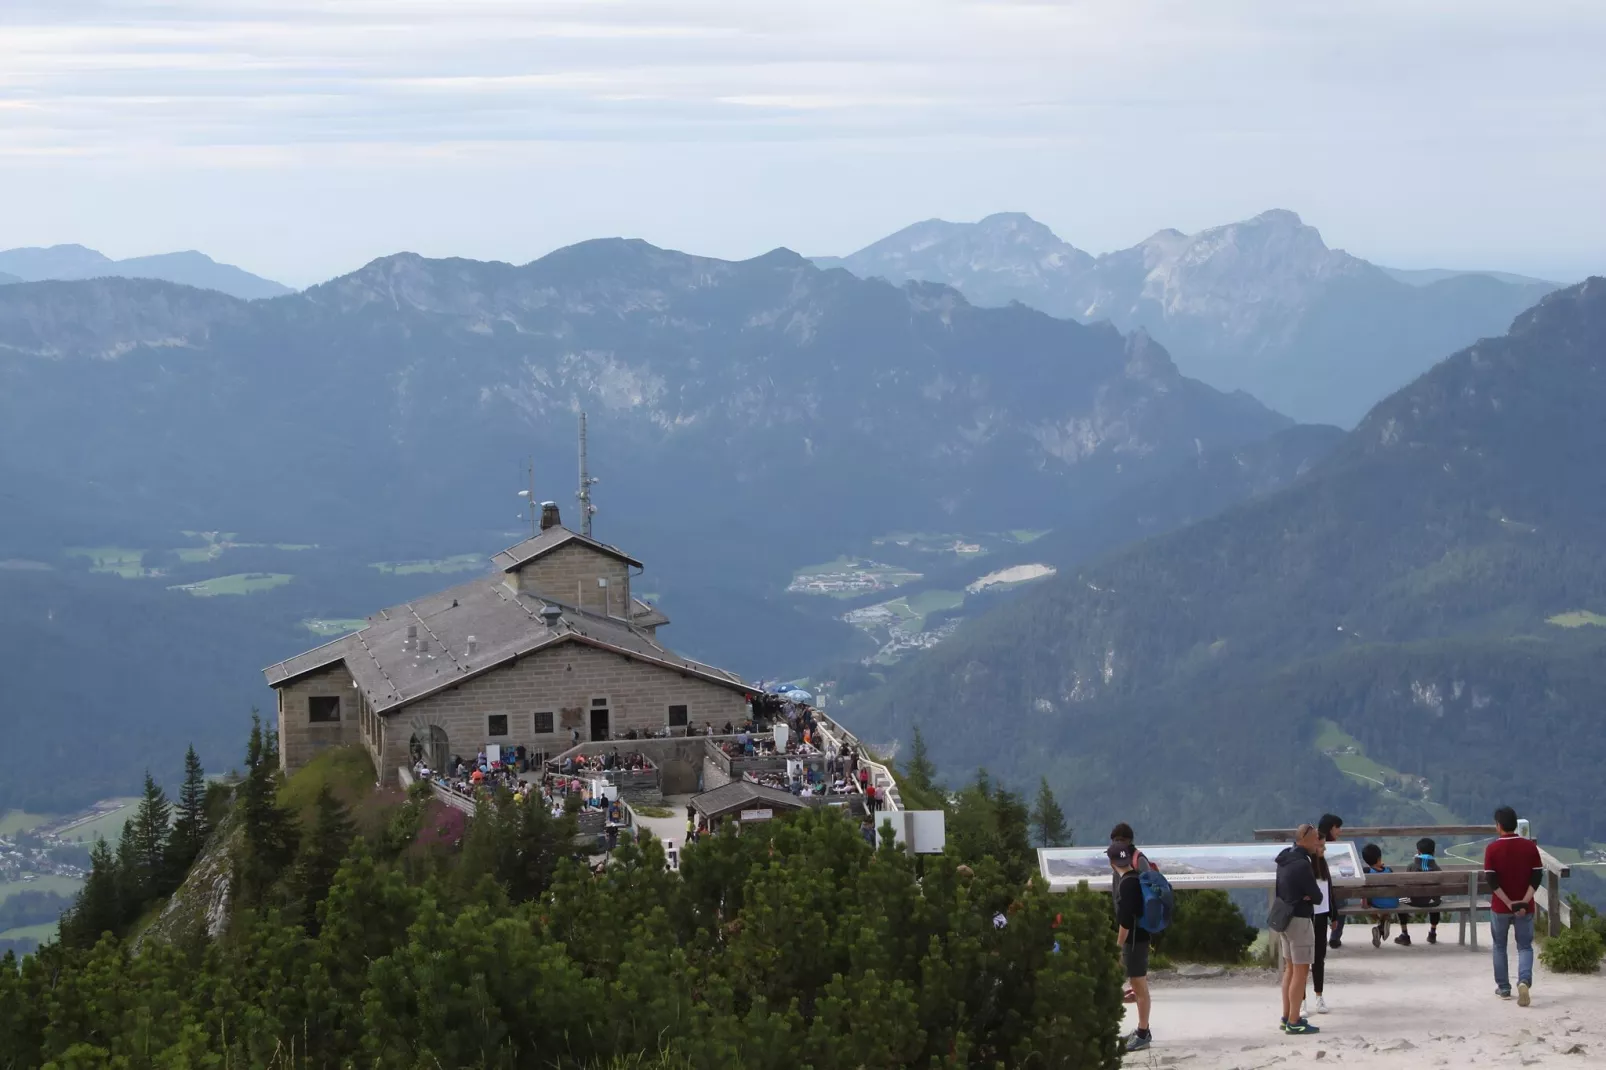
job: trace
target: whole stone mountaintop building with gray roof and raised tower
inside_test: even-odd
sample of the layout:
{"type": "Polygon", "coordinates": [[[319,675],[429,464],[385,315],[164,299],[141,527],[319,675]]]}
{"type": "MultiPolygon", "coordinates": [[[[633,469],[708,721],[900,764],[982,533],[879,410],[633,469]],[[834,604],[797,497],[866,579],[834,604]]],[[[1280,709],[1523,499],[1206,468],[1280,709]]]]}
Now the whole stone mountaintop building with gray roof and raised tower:
{"type": "Polygon", "coordinates": [[[363,744],[389,784],[419,753],[442,762],[499,744],[552,755],[577,739],[747,717],[739,676],[658,643],[668,617],[630,591],[641,562],[565,529],[556,504],[541,506],[540,535],[491,564],[265,668],[284,770],[363,744]]]}

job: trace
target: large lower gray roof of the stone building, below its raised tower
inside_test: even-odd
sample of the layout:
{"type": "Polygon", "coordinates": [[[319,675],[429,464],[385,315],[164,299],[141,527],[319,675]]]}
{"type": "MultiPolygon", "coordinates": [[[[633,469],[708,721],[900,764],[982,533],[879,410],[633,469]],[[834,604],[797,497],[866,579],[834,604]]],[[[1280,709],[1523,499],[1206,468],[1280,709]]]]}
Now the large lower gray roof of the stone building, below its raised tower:
{"type": "Polygon", "coordinates": [[[393,606],[368,622],[361,631],[267,667],[262,672],[268,684],[278,688],[345,662],[369,705],[384,713],[541,647],[586,643],[731,689],[748,689],[736,673],[681,657],[639,627],[536,594],[516,593],[499,575],[393,606]],[[562,611],[554,627],[541,617],[544,606],[562,611]],[[427,649],[403,649],[408,625],[418,628],[419,646],[427,643],[427,649]],[[469,636],[475,641],[472,654],[469,636]]]}

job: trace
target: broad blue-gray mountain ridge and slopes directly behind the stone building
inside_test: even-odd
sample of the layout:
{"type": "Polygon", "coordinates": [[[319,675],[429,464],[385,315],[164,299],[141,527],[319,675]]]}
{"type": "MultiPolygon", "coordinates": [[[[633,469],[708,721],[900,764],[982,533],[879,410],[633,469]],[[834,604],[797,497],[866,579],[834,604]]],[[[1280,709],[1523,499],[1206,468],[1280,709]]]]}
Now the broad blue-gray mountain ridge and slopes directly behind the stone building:
{"type": "Polygon", "coordinates": [[[782,594],[843,543],[1090,522],[1290,424],[1143,333],[787,251],[398,254],[268,302],[11,284],[0,501],[22,508],[0,519],[0,638],[37,672],[0,676],[0,794],[61,792],[51,770],[84,733],[104,749],[74,778],[92,795],[185,739],[226,745],[262,699],[251,670],[315,643],[305,620],[517,541],[525,458],[536,496],[572,501],[580,410],[597,535],[649,562],[676,647],[750,676],[853,639],[834,599],[782,594]],[[212,580],[230,594],[196,598],[212,580]]]}

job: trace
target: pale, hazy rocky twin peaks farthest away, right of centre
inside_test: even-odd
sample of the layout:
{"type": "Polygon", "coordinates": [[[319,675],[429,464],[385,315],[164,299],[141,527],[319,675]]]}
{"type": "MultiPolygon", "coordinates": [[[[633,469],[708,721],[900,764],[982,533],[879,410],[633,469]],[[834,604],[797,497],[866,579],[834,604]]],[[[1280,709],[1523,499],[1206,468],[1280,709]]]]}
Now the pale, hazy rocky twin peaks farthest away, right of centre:
{"type": "Polygon", "coordinates": [[[1018,212],[927,220],[821,267],[948,283],[981,305],[1021,302],[1145,329],[1185,374],[1241,389],[1301,423],[1354,426],[1444,353],[1500,334],[1553,283],[1380,268],[1330,249],[1288,210],[1196,235],[1161,230],[1090,255],[1018,212]]]}

